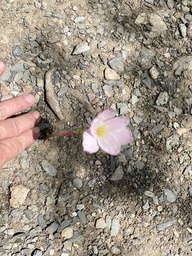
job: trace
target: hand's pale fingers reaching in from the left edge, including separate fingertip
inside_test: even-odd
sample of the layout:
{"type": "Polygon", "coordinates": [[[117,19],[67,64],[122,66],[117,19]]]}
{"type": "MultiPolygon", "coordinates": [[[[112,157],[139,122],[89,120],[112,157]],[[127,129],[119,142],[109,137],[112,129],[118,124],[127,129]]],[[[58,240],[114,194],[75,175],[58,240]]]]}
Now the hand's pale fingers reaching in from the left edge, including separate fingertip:
{"type": "MultiPolygon", "coordinates": [[[[0,61],[0,75],[5,69],[0,61]]],[[[37,124],[41,120],[38,111],[12,117],[34,104],[35,98],[29,93],[0,102],[0,169],[38,139],[40,129],[37,124]]]]}

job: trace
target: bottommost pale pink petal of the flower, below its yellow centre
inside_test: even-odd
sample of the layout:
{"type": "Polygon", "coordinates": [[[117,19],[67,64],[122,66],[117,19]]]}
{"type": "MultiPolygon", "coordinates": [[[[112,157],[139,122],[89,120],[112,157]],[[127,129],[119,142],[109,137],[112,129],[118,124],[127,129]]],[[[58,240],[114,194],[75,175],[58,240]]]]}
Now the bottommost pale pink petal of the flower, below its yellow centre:
{"type": "Polygon", "coordinates": [[[102,139],[99,138],[97,142],[103,151],[113,156],[117,156],[121,151],[119,140],[113,134],[108,134],[106,137],[102,137],[102,139]]]}

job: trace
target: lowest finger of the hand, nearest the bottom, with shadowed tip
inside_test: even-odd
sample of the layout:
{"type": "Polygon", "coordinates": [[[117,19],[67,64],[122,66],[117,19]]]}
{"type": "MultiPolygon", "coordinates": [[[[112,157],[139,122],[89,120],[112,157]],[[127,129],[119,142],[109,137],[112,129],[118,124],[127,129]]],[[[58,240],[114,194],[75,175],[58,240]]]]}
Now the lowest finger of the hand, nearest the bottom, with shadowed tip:
{"type": "Polygon", "coordinates": [[[6,162],[16,158],[16,156],[21,154],[24,149],[36,142],[39,134],[40,129],[38,127],[34,127],[27,132],[23,132],[23,134],[19,135],[18,137],[4,139],[3,141],[1,141],[0,166],[3,166],[4,164],[6,164],[6,162]]]}

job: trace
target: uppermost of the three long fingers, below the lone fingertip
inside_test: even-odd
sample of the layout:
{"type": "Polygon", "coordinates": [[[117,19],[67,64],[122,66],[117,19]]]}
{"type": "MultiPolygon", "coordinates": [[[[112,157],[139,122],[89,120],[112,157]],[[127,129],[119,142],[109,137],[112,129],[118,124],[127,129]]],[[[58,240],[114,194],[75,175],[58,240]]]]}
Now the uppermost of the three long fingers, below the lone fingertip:
{"type": "Polygon", "coordinates": [[[26,110],[32,107],[35,103],[35,97],[31,94],[24,94],[18,97],[14,97],[11,100],[6,100],[0,103],[0,121],[13,114],[17,114],[22,110],[26,110]]]}

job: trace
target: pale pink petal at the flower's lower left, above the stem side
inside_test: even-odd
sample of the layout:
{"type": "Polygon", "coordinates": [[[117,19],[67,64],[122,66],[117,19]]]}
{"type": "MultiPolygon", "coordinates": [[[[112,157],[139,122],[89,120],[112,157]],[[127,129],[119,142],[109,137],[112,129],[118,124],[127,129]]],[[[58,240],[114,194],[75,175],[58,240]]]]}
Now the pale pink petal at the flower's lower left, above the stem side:
{"type": "Polygon", "coordinates": [[[95,153],[99,150],[97,139],[92,137],[88,130],[82,135],[82,146],[84,151],[87,151],[90,154],[95,153]]]}

